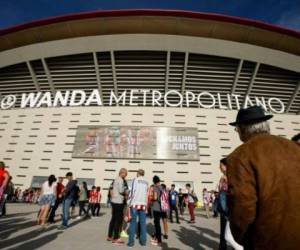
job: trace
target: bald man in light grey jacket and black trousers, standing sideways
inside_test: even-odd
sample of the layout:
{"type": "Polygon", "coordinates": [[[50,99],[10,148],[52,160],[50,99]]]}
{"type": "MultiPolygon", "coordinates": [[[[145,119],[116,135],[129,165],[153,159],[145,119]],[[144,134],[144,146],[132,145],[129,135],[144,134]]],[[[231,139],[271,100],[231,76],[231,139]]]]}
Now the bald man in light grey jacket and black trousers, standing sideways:
{"type": "Polygon", "coordinates": [[[124,241],[120,238],[120,232],[124,217],[124,201],[128,192],[124,181],[126,176],[127,169],[121,168],[119,176],[113,181],[111,190],[112,217],[109,223],[107,241],[112,241],[115,245],[124,244],[124,241]]]}

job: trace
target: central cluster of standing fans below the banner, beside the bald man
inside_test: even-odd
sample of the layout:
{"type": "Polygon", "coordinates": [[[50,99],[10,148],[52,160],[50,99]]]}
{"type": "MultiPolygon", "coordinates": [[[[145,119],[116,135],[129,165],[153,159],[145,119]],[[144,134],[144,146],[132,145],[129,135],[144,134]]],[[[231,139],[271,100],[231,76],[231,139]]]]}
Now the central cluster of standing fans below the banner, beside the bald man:
{"type": "Polygon", "coordinates": [[[176,223],[180,224],[179,214],[183,214],[185,207],[189,210],[189,223],[195,223],[194,210],[198,198],[189,183],[185,186],[185,192],[182,192],[182,189],[177,192],[174,184],[170,189],[167,188],[158,176],[154,176],[153,184],[149,185],[145,178],[145,171],[139,169],[131,187],[128,187],[126,176],[127,170],[122,168],[110,187],[112,217],[107,241],[115,245],[123,245],[125,242],[121,239],[122,231],[128,228],[128,224],[127,245],[132,247],[137,235],[140,244],[144,246],[146,244],[146,217],[149,216],[153,218],[155,228],[151,244],[160,246],[162,238],[168,239],[168,223],[174,223],[173,213],[175,213],[176,223]]]}

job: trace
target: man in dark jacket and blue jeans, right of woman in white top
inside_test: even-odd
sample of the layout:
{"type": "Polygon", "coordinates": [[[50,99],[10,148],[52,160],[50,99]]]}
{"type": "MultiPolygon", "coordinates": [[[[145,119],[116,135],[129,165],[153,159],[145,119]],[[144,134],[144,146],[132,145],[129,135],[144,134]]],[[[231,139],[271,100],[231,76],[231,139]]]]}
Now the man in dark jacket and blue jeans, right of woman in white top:
{"type": "Polygon", "coordinates": [[[68,221],[70,218],[70,207],[72,205],[72,202],[76,199],[78,196],[78,187],[76,180],[73,180],[73,174],[72,172],[68,172],[66,174],[66,178],[68,180],[68,184],[66,185],[66,188],[63,193],[63,218],[62,218],[62,225],[59,227],[59,229],[67,229],[68,228],[68,221]]]}

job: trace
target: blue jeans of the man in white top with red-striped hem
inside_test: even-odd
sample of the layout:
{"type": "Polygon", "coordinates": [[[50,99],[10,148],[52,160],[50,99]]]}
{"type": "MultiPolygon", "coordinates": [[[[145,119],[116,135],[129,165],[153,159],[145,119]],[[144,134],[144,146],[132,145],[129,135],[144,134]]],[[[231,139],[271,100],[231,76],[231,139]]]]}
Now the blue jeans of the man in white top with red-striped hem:
{"type": "Polygon", "coordinates": [[[136,233],[136,219],[139,217],[139,225],[140,225],[140,243],[141,245],[146,245],[146,211],[145,210],[137,210],[135,208],[130,208],[131,220],[129,227],[129,245],[134,244],[134,237],[136,233]]]}

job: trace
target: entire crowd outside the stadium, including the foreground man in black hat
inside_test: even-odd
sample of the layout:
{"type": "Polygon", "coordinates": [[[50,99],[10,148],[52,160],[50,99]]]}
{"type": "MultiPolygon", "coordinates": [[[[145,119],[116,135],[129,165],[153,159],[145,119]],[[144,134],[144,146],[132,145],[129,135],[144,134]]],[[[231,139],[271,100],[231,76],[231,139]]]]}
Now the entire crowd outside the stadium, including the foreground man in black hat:
{"type": "MultiPolygon", "coordinates": [[[[219,250],[226,250],[228,243],[234,249],[297,249],[300,245],[300,134],[292,140],[270,134],[268,120],[261,107],[241,109],[235,127],[243,142],[234,152],[220,160],[222,176],[217,191],[202,192],[202,205],[207,218],[212,207],[213,216],[220,214],[219,250]]],[[[138,238],[141,246],[146,245],[146,218],[153,218],[154,230],[151,244],[161,246],[168,239],[168,223],[181,223],[180,215],[187,208],[189,223],[195,223],[195,208],[201,201],[189,183],[184,190],[176,191],[174,184],[167,187],[158,176],[152,184],[139,169],[129,186],[127,169],[121,168],[111,183],[108,204],[111,220],[108,225],[107,241],[123,245],[127,236],[129,247],[138,238]],[[173,217],[175,214],[175,217],[173,217]],[[175,218],[175,220],[174,220],[175,218]],[[162,225],[162,227],[161,227],[162,225]]],[[[78,186],[73,174],[63,178],[50,175],[41,191],[13,189],[11,177],[0,162],[0,214],[5,214],[5,201],[22,200],[37,202],[40,210],[37,224],[55,222],[55,213],[62,205],[61,225],[68,222],[75,205],[79,204],[78,219],[99,216],[101,188],[88,190],[85,182],[78,186]],[[12,191],[14,190],[14,191],[12,191]]]]}

